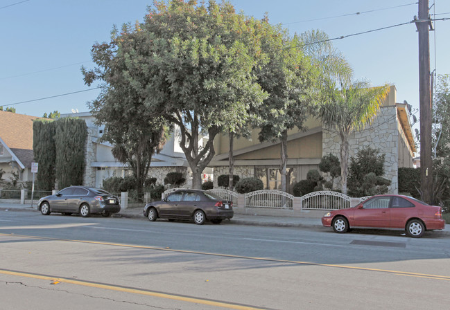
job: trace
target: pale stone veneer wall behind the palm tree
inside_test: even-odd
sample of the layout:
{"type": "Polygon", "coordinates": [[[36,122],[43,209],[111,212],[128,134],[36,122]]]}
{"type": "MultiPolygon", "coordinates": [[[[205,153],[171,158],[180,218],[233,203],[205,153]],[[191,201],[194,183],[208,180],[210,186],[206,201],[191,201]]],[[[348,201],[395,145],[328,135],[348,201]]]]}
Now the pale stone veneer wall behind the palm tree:
{"type": "MultiPolygon", "coordinates": [[[[350,136],[349,157],[355,156],[358,149],[369,146],[386,154],[384,177],[391,181],[388,193],[398,193],[399,131],[397,129],[397,108],[382,107],[372,125],[350,136]]],[[[339,158],[340,138],[338,134],[326,129],[322,133],[323,156],[331,153],[339,158]]],[[[340,178],[335,180],[340,183],[340,178]]]]}

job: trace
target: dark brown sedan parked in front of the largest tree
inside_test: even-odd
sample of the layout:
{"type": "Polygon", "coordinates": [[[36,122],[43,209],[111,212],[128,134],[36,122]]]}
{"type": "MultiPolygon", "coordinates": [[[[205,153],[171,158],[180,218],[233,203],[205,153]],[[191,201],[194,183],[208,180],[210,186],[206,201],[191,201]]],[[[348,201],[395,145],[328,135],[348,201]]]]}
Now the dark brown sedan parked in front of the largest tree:
{"type": "Polygon", "coordinates": [[[232,201],[221,199],[216,194],[205,190],[177,190],[162,201],[154,201],[144,206],[144,216],[150,221],[165,218],[193,219],[202,225],[206,220],[220,224],[223,219],[234,215],[232,201]]]}

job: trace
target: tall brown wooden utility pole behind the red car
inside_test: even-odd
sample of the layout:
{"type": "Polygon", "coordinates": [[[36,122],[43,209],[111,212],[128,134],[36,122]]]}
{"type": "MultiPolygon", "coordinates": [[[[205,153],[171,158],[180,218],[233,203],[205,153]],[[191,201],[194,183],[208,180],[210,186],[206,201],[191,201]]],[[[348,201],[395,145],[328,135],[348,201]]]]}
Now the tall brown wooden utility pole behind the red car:
{"type": "Polygon", "coordinates": [[[420,191],[422,200],[433,203],[433,163],[431,161],[431,85],[429,0],[419,0],[419,19],[414,17],[419,32],[419,111],[420,111],[420,191]]]}

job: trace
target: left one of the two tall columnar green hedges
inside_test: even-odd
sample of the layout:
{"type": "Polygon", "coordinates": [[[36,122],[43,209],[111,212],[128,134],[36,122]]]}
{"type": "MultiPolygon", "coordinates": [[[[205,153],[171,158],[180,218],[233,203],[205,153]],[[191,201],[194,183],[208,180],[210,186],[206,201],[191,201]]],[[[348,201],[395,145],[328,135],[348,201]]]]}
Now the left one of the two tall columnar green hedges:
{"type": "Polygon", "coordinates": [[[33,122],[34,160],[39,164],[35,188],[53,190],[55,188],[55,125],[51,120],[33,122]]]}

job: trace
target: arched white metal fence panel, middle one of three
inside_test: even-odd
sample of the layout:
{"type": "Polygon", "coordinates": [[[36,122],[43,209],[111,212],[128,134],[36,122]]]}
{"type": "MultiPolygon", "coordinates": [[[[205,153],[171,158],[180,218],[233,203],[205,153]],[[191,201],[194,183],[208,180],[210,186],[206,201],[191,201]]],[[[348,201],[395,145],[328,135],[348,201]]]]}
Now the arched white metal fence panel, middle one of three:
{"type": "Polygon", "coordinates": [[[245,194],[245,208],[293,209],[294,197],[280,190],[257,190],[245,194]]]}

